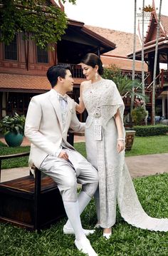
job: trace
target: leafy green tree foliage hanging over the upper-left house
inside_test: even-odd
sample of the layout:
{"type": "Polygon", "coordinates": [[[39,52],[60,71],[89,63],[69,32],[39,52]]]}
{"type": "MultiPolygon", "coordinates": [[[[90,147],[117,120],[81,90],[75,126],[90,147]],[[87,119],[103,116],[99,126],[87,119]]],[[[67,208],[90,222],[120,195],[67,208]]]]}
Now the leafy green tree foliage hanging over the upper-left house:
{"type": "MultiPolygon", "coordinates": [[[[75,4],[75,0],[68,1],[75,4]]],[[[64,0],[62,2],[65,3],[64,0]]],[[[46,0],[0,0],[0,41],[8,45],[18,32],[23,33],[23,39],[31,39],[41,48],[61,40],[67,17],[54,3],[46,0]]]]}

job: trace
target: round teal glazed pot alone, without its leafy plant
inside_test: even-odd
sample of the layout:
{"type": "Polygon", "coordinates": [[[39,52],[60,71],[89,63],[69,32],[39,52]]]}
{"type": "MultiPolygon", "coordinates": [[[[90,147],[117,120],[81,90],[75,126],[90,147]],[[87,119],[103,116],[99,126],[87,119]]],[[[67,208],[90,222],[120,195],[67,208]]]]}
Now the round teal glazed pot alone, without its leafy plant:
{"type": "Polygon", "coordinates": [[[4,138],[9,147],[18,147],[23,142],[23,135],[21,133],[9,132],[4,138]]]}

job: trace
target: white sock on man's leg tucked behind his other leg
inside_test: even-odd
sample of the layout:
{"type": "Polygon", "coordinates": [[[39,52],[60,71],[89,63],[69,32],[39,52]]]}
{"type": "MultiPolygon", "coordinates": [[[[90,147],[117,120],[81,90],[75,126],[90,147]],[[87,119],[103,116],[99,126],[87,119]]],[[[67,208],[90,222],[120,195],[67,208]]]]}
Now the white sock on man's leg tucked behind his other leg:
{"type": "MultiPolygon", "coordinates": [[[[88,203],[90,202],[91,198],[89,195],[87,195],[85,192],[81,192],[78,195],[78,205],[79,205],[79,213],[83,213],[83,210],[85,209],[85,207],[88,205],[88,203]]],[[[65,226],[67,228],[72,228],[72,225],[70,224],[70,221],[68,220],[65,224],[65,226]]]]}

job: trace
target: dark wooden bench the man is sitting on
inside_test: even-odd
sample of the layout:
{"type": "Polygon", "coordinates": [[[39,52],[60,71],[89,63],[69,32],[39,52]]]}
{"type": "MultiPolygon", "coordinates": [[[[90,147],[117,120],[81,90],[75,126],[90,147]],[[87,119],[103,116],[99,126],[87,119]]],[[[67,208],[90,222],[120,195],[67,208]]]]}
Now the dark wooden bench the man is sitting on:
{"type": "MultiPolygon", "coordinates": [[[[68,137],[73,144],[73,134],[68,137]]],[[[29,153],[0,156],[1,161],[19,158],[29,153]]],[[[65,216],[63,201],[53,180],[33,167],[34,176],[0,183],[0,221],[11,222],[28,230],[41,230],[65,216]]]]}

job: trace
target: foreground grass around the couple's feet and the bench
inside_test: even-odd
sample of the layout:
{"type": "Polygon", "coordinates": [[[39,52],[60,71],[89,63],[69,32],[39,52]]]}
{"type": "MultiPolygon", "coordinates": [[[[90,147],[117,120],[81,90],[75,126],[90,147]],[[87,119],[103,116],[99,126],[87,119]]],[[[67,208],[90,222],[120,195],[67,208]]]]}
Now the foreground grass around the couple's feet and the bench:
{"type": "MultiPolygon", "coordinates": [[[[145,211],[153,217],[168,217],[168,174],[137,178],[137,194],[145,211]]],[[[96,222],[92,202],[81,216],[83,227],[93,228],[96,222]]],[[[63,235],[63,218],[40,234],[12,225],[0,225],[0,255],[4,256],[82,256],[75,249],[73,235],[63,235]]],[[[128,225],[117,210],[117,222],[112,237],[105,240],[102,230],[96,230],[89,240],[99,256],[167,256],[168,232],[151,232],[128,225]]]]}

